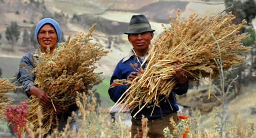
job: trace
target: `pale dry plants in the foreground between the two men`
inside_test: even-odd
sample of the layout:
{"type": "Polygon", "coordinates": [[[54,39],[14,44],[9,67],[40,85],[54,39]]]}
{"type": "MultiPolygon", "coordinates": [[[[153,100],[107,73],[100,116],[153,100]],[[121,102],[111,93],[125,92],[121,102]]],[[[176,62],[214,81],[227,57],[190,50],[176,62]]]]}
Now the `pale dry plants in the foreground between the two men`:
{"type": "Polygon", "coordinates": [[[85,94],[77,95],[77,105],[81,113],[81,119],[78,119],[80,129],[78,138],[130,138],[130,132],[127,125],[124,124],[121,115],[117,121],[112,122],[108,109],[102,109],[97,106],[96,98],[92,95],[91,103],[85,94]]]}

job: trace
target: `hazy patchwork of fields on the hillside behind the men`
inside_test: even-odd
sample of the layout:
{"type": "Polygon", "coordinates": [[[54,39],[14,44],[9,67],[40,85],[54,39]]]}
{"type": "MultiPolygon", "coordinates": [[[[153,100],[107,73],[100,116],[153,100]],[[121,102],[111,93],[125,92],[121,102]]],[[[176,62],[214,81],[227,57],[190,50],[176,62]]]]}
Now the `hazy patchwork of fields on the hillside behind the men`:
{"type": "MultiPolygon", "coordinates": [[[[155,38],[158,34],[162,33],[163,28],[161,24],[168,23],[168,15],[175,16],[177,8],[182,10],[182,15],[187,18],[189,10],[198,9],[196,5],[198,3],[186,2],[186,1],[145,1],[141,3],[140,1],[134,1],[134,4],[140,5],[138,7],[133,7],[130,3],[131,1],[124,4],[123,10],[113,8],[115,6],[120,6],[120,3],[125,1],[76,1],[70,3],[70,1],[66,0],[46,0],[44,6],[41,4],[37,6],[33,3],[27,3],[22,1],[5,1],[4,3],[0,3],[1,12],[0,17],[3,19],[0,21],[0,33],[2,34],[1,45],[0,45],[0,54],[5,56],[19,56],[21,57],[25,52],[30,51],[31,49],[24,49],[19,47],[22,43],[22,39],[19,39],[17,42],[17,46],[15,47],[15,52],[3,51],[3,48],[8,48],[10,45],[7,43],[5,39],[5,28],[10,24],[11,21],[17,21],[18,25],[21,27],[22,36],[24,29],[29,30],[32,26],[35,25],[37,21],[40,20],[43,16],[52,15],[54,16],[56,13],[61,13],[60,15],[64,15],[63,17],[67,18],[67,21],[62,21],[61,24],[63,33],[65,37],[68,35],[74,35],[80,31],[87,32],[93,22],[97,22],[98,26],[94,32],[95,39],[97,38],[100,43],[102,43],[105,47],[110,46],[110,53],[107,57],[103,57],[103,59],[99,62],[99,70],[104,72],[105,76],[110,76],[115,67],[115,64],[129,52],[131,48],[130,44],[127,43],[127,36],[123,34],[123,32],[127,29],[127,25],[129,24],[130,18],[134,14],[145,14],[150,22],[153,29],[156,30],[155,38]],[[114,2],[114,4],[110,4],[114,2]],[[108,4],[106,4],[108,3],[108,4]],[[133,7],[133,9],[129,9],[127,7],[133,7]],[[72,7],[72,8],[67,8],[72,7]],[[80,9],[81,7],[86,8],[80,9]],[[107,8],[108,7],[108,8],[107,8]],[[164,7],[164,8],[162,8],[164,7]],[[46,9],[45,9],[46,8],[46,9]],[[83,13],[76,13],[72,10],[83,11],[83,13]],[[102,11],[100,10],[102,9],[102,11]],[[158,10],[161,9],[161,10],[158,10]],[[103,12],[104,10],[104,12],[103,12]],[[18,14],[17,14],[18,11],[18,14]],[[43,11],[43,12],[41,12],[43,11]],[[171,11],[171,13],[170,13],[171,11]],[[77,14],[82,18],[82,22],[76,22],[73,20],[73,14],[77,14]],[[165,13],[165,14],[164,14],[165,13]],[[157,16],[157,15],[161,15],[157,16]],[[165,17],[162,17],[165,16],[165,17]],[[161,19],[162,20],[159,20],[161,19]],[[91,23],[88,23],[88,19],[90,19],[91,23]],[[95,21],[94,21],[95,20],[95,21]],[[115,40],[118,38],[118,42],[115,40]],[[108,40],[111,40],[111,45],[109,45],[108,40]],[[118,55],[120,58],[116,58],[115,55],[118,55]]],[[[209,15],[210,13],[218,13],[222,9],[224,9],[223,4],[220,5],[208,5],[203,4],[206,9],[209,11],[204,11],[202,14],[209,15]],[[207,7],[208,6],[208,7],[207,7]],[[212,10],[209,9],[212,8],[212,10]],[[219,11],[213,10],[215,8],[219,8],[219,11]]],[[[204,8],[201,8],[203,10],[204,8]]],[[[195,10],[196,11],[196,10],[195,10]]],[[[200,11],[197,11],[200,13],[200,11]]],[[[58,15],[58,14],[57,14],[58,15]]],[[[61,19],[63,18],[61,17],[61,19]]],[[[164,24],[168,27],[168,24],[164,24]]],[[[9,75],[10,76],[10,75],[9,75]]]]}

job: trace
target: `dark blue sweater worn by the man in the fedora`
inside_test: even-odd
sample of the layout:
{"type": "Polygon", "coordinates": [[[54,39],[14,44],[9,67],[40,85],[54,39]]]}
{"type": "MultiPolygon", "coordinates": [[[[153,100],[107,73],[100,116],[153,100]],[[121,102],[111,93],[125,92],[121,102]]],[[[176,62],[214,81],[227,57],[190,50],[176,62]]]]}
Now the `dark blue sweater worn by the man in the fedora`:
{"type": "MultiPolygon", "coordinates": [[[[140,63],[138,60],[140,60],[140,63],[142,63],[142,60],[140,57],[136,57],[136,55],[131,55],[131,56],[126,56],[124,57],[116,66],[113,75],[110,80],[110,85],[113,83],[113,80],[115,79],[127,79],[127,77],[131,74],[131,72],[136,72],[130,64],[137,63],[138,67],[140,67],[140,63]]],[[[145,68],[145,64],[143,66],[145,68]]],[[[125,92],[125,90],[128,88],[127,85],[122,85],[122,86],[116,86],[113,88],[109,88],[108,93],[110,98],[114,101],[117,102],[118,99],[122,96],[122,94],[125,92]]],[[[166,116],[167,114],[173,113],[178,111],[178,106],[176,104],[176,98],[175,95],[182,95],[187,93],[188,90],[188,83],[185,84],[176,84],[175,88],[172,90],[172,93],[170,93],[168,100],[172,105],[173,110],[171,109],[169,103],[167,100],[162,100],[159,102],[160,107],[155,107],[154,112],[151,115],[151,112],[153,110],[153,104],[148,104],[150,108],[143,108],[140,113],[138,113],[135,117],[135,119],[140,120],[142,118],[142,114],[147,117],[149,120],[154,120],[157,118],[161,118],[163,116],[166,116]]],[[[164,97],[160,96],[160,99],[164,97]]],[[[142,107],[143,105],[141,105],[142,107]]],[[[134,116],[134,114],[139,110],[139,107],[136,107],[134,110],[131,110],[131,115],[134,116]]]]}

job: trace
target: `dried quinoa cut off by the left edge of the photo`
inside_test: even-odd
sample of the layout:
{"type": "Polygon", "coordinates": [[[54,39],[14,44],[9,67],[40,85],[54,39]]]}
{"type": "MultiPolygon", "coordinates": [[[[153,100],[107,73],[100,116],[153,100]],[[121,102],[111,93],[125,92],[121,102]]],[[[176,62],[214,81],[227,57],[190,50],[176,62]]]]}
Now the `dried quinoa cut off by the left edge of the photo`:
{"type": "Polygon", "coordinates": [[[5,94],[17,88],[21,87],[11,84],[6,78],[0,78],[0,120],[6,120],[4,117],[5,108],[12,103],[12,100],[5,96],[5,94]]]}

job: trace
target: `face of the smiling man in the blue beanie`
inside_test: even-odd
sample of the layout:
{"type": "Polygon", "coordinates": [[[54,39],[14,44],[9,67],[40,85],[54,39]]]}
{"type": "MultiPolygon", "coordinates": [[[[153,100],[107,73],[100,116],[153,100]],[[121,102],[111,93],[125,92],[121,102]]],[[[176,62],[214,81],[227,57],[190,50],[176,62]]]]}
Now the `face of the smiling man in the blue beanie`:
{"type": "Polygon", "coordinates": [[[49,24],[44,25],[38,33],[38,40],[42,48],[47,48],[47,45],[49,45],[50,48],[55,47],[57,43],[57,33],[54,27],[49,24]]]}

